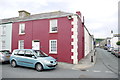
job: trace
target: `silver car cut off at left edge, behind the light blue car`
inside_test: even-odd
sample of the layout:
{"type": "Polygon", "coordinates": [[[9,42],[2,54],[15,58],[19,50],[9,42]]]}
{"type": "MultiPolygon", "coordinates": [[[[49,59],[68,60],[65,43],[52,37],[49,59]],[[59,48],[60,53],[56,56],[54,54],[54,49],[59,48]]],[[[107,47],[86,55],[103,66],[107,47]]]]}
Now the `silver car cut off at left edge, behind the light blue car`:
{"type": "Polygon", "coordinates": [[[0,62],[9,62],[11,52],[9,50],[0,51],[0,62]]]}

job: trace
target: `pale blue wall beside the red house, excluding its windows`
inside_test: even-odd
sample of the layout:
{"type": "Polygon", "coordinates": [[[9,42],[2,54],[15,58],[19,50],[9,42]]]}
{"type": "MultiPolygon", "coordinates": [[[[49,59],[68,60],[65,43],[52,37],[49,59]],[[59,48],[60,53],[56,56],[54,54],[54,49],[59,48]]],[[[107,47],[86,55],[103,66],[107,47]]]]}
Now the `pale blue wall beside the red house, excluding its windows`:
{"type": "Polygon", "coordinates": [[[12,23],[1,24],[0,25],[0,50],[10,50],[11,51],[11,40],[12,40],[12,23]],[[5,26],[5,35],[2,35],[2,26],[5,26]],[[5,41],[5,47],[2,48],[2,41],[5,41]]]}

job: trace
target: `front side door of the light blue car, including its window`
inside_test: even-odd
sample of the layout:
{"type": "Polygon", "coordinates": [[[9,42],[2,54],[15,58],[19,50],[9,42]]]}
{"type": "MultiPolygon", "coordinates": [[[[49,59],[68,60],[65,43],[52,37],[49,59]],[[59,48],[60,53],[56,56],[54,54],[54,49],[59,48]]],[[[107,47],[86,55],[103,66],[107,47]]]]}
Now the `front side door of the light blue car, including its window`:
{"type": "Polygon", "coordinates": [[[25,58],[24,58],[25,66],[27,67],[34,67],[36,59],[34,57],[32,50],[25,51],[25,58]]]}

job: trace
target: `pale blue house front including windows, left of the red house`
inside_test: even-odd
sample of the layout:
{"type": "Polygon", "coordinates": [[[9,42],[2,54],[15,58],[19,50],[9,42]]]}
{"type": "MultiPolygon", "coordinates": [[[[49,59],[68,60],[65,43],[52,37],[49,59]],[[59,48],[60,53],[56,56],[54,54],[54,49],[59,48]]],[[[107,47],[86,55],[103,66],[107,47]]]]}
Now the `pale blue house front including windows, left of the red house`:
{"type": "Polygon", "coordinates": [[[0,50],[11,51],[12,23],[0,21],[0,50]]]}

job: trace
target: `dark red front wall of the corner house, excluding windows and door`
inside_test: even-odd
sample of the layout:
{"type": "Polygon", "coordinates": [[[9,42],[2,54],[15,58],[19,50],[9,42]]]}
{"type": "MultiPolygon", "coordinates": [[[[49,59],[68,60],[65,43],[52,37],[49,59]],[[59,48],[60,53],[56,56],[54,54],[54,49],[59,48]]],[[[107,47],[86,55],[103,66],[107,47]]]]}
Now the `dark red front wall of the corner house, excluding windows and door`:
{"type": "Polygon", "coordinates": [[[18,49],[18,40],[24,40],[24,48],[32,48],[32,40],[40,41],[40,49],[59,62],[73,63],[71,59],[72,39],[71,39],[71,21],[67,17],[54,18],[58,19],[58,33],[49,33],[49,20],[33,20],[25,22],[13,23],[13,37],[12,37],[12,50],[18,49]],[[25,23],[26,29],[24,35],[19,35],[19,23],[25,23]],[[57,54],[49,53],[49,40],[57,40],[57,54]]]}

